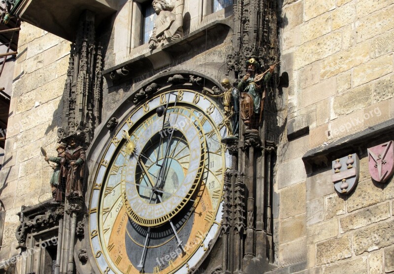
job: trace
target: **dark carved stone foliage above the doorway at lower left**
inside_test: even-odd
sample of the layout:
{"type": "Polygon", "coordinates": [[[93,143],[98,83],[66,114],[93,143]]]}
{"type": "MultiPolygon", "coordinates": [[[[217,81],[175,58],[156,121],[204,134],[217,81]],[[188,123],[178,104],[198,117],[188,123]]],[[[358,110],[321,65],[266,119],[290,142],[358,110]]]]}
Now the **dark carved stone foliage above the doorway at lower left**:
{"type": "Polygon", "coordinates": [[[18,213],[21,224],[15,232],[18,247],[26,247],[26,238],[33,229],[44,230],[47,227],[58,225],[59,219],[63,217],[63,208],[49,209],[46,212],[27,214],[24,211],[18,213]]]}

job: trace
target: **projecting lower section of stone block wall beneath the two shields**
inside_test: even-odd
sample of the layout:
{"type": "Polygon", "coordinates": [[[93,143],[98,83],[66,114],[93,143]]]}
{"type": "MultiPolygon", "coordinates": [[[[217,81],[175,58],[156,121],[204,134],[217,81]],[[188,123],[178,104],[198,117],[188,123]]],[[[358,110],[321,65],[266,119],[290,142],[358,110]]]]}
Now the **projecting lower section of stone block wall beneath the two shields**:
{"type": "Polygon", "coordinates": [[[349,196],[333,190],[331,170],[308,175],[307,191],[312,194],[307,192],[307,265],[316,267],[316,273],[394,270],[394,180],[373,183],[366,155],[360,166],[360,181],[349,196]]]}

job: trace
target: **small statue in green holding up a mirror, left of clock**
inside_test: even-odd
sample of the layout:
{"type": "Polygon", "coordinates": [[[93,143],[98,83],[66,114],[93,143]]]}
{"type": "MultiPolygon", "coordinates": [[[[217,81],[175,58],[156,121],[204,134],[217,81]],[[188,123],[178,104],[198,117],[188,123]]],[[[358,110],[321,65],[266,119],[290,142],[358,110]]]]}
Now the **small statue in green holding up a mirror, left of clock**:
{"type": "MultiPolygon", "coordinates": [[[[41,149],[43,151],[43,149],[41,149]]],[[[66,186],[66,145],[61,144],[57,147],[57,157],[48,157],[45,152],[45,161],[54,162],[56,165],[51,165],[53,174],[51,177],[51,191],[54,203],[62,203],[65,200],[65,186],[66,186]]],[[[43,153],[44,154],[44,153],[43,153]]]]}

